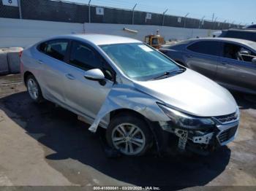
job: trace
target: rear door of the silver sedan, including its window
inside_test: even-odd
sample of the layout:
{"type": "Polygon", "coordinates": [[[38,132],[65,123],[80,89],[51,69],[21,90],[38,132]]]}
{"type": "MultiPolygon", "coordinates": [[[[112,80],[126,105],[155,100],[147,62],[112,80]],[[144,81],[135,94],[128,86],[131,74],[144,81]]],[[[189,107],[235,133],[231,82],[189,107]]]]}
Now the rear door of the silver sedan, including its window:
{"type": "Polygon", "coordinates": [[[39,64],[42,65],[42,88],[45,98],[64,102],[64,67],[68,39],[54,39],[39,44],[39,64]]]}

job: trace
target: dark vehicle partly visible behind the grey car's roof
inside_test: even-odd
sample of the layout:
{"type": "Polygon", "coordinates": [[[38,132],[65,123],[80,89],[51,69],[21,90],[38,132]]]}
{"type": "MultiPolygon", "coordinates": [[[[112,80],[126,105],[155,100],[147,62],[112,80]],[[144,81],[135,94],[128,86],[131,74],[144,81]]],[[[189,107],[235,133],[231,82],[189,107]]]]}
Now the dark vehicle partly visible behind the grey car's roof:
{"type": "Polygon", "coordinates": [[[252,28],[231,28],[222,31],[222,34],[220,34],[219,37],[246,39],[256,42],[256,30],[252,28]]]}

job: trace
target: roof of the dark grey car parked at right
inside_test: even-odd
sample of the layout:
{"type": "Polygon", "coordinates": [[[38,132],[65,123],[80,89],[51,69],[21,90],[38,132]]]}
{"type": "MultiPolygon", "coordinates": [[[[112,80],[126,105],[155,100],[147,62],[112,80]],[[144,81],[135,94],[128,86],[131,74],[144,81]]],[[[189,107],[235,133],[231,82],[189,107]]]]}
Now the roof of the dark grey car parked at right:
{"type": "MultiPolygon", "coordinates": [[[[207,38],[198,38],[198,39],[188,39],[186,40],[186,44],[190,43],[190,42],[197,42],[197,41],[203,41],[203,40],[212,40],[212,41],[222,41],[222,42],[235,42],[238,44],[244,44],[248,47],[251,47],[252,49],[256,49],[256,42],[252,42],[249,40],[245,40],[245,39],[234,39],[234,38],[223,38],[223,37],[207,37],[207,38]]],[[[182,42],[181,42],[182,43],[182,42]]]]}

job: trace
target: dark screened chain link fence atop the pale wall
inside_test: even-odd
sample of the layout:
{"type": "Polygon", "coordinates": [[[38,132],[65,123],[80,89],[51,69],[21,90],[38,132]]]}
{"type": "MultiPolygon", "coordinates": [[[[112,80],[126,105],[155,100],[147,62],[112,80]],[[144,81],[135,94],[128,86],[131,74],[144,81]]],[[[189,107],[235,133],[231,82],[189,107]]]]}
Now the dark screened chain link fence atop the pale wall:
{"type": "MultiPolygon", "coordinates": [[[[103,14],[97,12],[97,6],[74,4],[64,1],[50,0],[19,0],[22,19],[49,20],[68,23],[116,23],[153,26],[172,26],[181,28],[227,29],[241,26],[230,23],[198,20],[190,17],[162,15],[157,13],[140,12],[128,9],[101,7],[103,14]],[[90,9],[90,11],[89,11],[90,9]],[[90,16],[89,16],[90,13],[90,16]],[[90,18],[89,18],[90,17],[90,18]]],[[[2,4],[0,1],[0,17],[20,18],[19,8],[2,4]]]]}

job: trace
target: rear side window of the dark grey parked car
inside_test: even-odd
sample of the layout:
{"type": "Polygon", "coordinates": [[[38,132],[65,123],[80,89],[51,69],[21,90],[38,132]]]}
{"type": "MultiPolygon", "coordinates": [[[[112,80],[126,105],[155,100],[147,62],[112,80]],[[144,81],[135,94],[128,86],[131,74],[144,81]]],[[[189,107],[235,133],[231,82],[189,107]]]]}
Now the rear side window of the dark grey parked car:
{"type": "Polygon", "coordinates": [[[219,56],[220,42],[213,41],[200,41],[187,47],[188,50],[193,52],[202,53],[206,55],[217,55],[219,56]]]}

